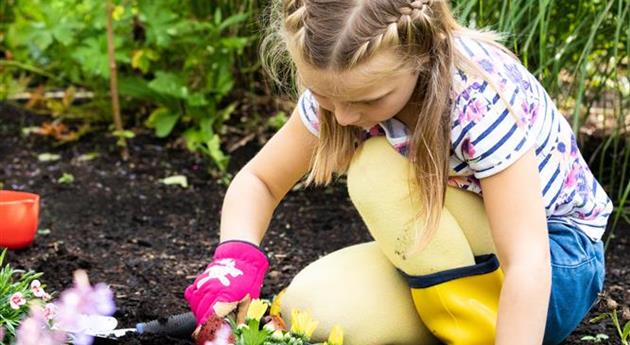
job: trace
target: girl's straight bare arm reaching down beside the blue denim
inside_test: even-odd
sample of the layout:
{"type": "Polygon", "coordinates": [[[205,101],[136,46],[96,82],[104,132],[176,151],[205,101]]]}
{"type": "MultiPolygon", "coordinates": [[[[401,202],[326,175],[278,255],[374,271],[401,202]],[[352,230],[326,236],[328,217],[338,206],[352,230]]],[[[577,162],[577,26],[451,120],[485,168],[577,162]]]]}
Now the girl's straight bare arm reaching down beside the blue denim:
{"type": "Polygon", "coordinates": [[[505,280],[496,344],[541,344],[551,292],[551,261],[541,181],[533,149],[481,179],[483,201],[505,280]]]}

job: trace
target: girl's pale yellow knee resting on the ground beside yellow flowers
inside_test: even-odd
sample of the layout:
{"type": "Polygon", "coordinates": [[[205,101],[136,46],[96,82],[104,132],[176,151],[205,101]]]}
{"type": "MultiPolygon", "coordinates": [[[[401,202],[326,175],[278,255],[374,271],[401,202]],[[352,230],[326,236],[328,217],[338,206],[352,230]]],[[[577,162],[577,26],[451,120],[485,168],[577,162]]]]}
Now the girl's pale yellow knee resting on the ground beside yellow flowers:
{"type": "Polygon", "coordinates": [[[374,242],[331,253],[304,268],[282,299],[282,315],[306,310],[319,321],[313,340],[338,324],[344,344],[432,344],[406,282],[374,242]]]}

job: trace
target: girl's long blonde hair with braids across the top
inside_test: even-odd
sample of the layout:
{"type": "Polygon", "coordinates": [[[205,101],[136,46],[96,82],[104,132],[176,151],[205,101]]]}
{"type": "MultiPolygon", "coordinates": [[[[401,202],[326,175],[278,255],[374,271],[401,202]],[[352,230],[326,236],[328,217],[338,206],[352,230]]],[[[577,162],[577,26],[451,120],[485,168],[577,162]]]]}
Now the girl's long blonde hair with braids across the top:
{"type": "MultiPolygon", "coordinates": [[[[462,27],[445,0],[278,0],[262,43],[263,67],[283,88],[295,74],[295,62],[329,71],[347,71],[384,49],[394,49],[400,68],[419,72],[409,102],[417,123],[409,158],[414,166],[419,216],[424,235],[413,251],[430,241],[444,207],[449,174],[453,67],[476,75],[483,71],[454,48],[455,36],[468,36],[500,47],[490,31],[462,27]]],[[[392,68],[395,70],[396,67],[392,68]]],[[[489,78],[488,78],[489,79],[489,78]]],[[[297,81],[299,91],[302,85],[297,81]]],[[[328,184],[345,173],[361,140],[361,129],[343,127],[319,108],[320,140],[307,183],[328,184]]]]}

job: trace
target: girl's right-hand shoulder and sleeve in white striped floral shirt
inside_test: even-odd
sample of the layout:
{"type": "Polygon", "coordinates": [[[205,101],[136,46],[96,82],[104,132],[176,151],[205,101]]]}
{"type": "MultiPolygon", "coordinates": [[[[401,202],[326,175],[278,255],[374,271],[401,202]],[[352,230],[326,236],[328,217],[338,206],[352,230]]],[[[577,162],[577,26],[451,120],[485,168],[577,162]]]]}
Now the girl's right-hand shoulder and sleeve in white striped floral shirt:
{"type": "Polygon", "coordinates": [[[455,43],[466,63],[453,72],[453,154],[483,178],[536,145],[543,93],[535,77],[500,45],[470,37],[455,43]]]}

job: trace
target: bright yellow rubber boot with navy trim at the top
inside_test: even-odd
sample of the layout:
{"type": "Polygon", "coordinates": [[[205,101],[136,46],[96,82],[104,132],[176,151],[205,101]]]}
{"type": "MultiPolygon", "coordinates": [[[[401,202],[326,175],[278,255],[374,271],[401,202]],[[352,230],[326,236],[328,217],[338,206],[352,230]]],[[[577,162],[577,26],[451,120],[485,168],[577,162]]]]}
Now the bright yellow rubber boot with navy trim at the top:
{"type": "Polygon", "coordinates": [[[424,276],[401,272],[418,315],[445,344],[494,344],[503,272],[494,254],[475,259],[475,265],[424,276]]]}

